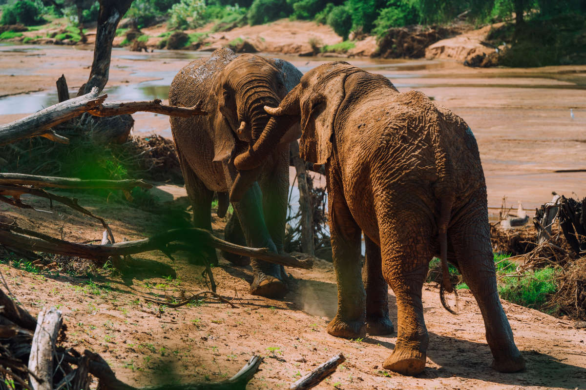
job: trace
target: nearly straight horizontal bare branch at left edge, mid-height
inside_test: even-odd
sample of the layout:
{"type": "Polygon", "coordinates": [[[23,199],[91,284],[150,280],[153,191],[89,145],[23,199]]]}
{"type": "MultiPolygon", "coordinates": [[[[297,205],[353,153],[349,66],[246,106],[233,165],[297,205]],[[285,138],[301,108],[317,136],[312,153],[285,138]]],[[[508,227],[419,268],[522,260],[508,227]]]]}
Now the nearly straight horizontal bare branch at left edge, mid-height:
{"type": "Polygon", "coordinates": [[[22,173],[0,173],[0,184],[32,185],[33,188],[122,189],[123,191],[130,191],[134,187],[152,188],[152,184],[143,180],[81,180],[22,173]]]}

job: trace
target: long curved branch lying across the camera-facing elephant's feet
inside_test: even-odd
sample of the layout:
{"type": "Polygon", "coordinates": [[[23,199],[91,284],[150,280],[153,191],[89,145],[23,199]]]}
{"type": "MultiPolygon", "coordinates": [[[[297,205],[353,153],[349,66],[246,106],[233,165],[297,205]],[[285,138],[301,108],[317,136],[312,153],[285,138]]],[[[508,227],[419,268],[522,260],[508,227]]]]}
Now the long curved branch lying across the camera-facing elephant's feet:
{"type": "Polygon", "coordinates": [[[267,248],[257,249],[229,243],[228,241],[215,237],[205,229],[197,229],[196,227],[167,230],[166,232],[155,234],[155,236],[148,239],[92,245],[72,243],[0,222],[0,243],[8,247],[25,247],[35,251],[78,256],[94,260],[104,260],[110,256],[126,256],[151,250],[172,253],[172,251],[179,249],[192,249],[200,253],[202,247],[214,247],[241,256],[258,258],[268,263],[286,265],[287,267],[305,269],[312,267],[311,260],[300,261],[292,256],[272,253],[267,248]],[[173,241],[181,241],[183,244],[180,247],[176,247],[171,244],[173,241]]]}

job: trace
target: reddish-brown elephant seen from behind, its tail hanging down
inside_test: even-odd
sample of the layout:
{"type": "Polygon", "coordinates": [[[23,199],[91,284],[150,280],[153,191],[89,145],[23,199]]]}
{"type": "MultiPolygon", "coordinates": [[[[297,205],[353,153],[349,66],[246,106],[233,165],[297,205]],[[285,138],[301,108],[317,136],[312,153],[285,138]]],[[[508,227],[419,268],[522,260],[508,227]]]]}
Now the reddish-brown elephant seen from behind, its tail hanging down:
{"type": "MultiPolygon", "coordinates": [[[[423,371],[429,337],[421,290],[428,264],[438,256],[442,288],[452,291],[449,260],[478,302],[492,367],[522,370],[497,291],[478,145],[464,120],[422,92],[400,93],[386,77],[343,61],[309,71],[278,107],[265,111],[277,123],[298,118],[299,155],[325,164],[338,282],[338,311],[328,333],[355,338],[393,332],[388,284],[397,299],[398,330],[383,367],[406,375],[423,371]]],[[[270,147],[261,143],[277,144],[279,129],[261,134],[235,158],[236,168],[262,164],[267,154],[259,151],[270,147]]]]}

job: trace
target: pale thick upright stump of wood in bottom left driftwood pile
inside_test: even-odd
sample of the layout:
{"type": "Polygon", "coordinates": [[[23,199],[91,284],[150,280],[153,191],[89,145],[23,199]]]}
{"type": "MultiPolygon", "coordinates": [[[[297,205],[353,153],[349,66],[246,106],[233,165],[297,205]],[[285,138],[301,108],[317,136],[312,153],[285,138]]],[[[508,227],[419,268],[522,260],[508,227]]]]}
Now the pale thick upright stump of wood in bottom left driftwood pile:
{"type": "Polygon", "coordinates": [[[61,325],[59,310],[40,311],[29,355],[29,380],[35,390],[53,389],[53,351],[61,325]]]}

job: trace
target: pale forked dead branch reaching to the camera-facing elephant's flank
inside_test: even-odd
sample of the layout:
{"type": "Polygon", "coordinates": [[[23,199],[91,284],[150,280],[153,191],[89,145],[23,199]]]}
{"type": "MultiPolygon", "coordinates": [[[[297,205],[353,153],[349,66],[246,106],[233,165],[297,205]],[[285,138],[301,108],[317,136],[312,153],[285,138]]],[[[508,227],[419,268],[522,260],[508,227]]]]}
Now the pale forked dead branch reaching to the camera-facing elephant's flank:
{"type": "Polygon", "coordinates": [[[97,116],[113,116],[137,111],[148,111],[171,116],[206,115],[197,106],[175,107],[161,104],[160,100],[148,102],[109,102],[104,103],[107,94],[99,94],[94,88],[85,95],[57,103],[39,112],[0,126],[0,145],[8,144],[21,139],[43,136],[50,140],[69,143],[69,139],[49,130],[66,120],[75,118],[84,112],[97,116]]]}

